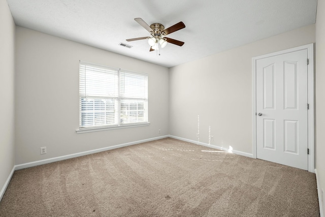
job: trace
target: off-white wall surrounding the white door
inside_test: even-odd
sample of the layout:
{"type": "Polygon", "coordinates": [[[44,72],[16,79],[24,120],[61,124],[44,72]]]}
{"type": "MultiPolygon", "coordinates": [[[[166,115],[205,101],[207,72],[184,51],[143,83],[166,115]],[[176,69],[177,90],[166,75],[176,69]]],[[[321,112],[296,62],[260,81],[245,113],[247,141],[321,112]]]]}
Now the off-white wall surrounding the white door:
{"type": "MultiPolygon", "coordinates": [[[[240,37],[240,36],[238,36],[240,37]]],[[[315,25],[170,69],[170,134],[252,153],[252,57],[315,42],[315,25]]]]}

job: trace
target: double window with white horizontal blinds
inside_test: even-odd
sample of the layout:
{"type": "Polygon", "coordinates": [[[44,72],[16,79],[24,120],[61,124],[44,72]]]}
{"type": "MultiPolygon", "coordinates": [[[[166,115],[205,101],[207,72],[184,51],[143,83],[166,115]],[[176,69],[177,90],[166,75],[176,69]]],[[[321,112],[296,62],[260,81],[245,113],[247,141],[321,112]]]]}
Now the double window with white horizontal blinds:
{"type": "Polygon", "coordinates": [[[148,123],[148,76],[80,61],[79,129],[148,123]]]}

